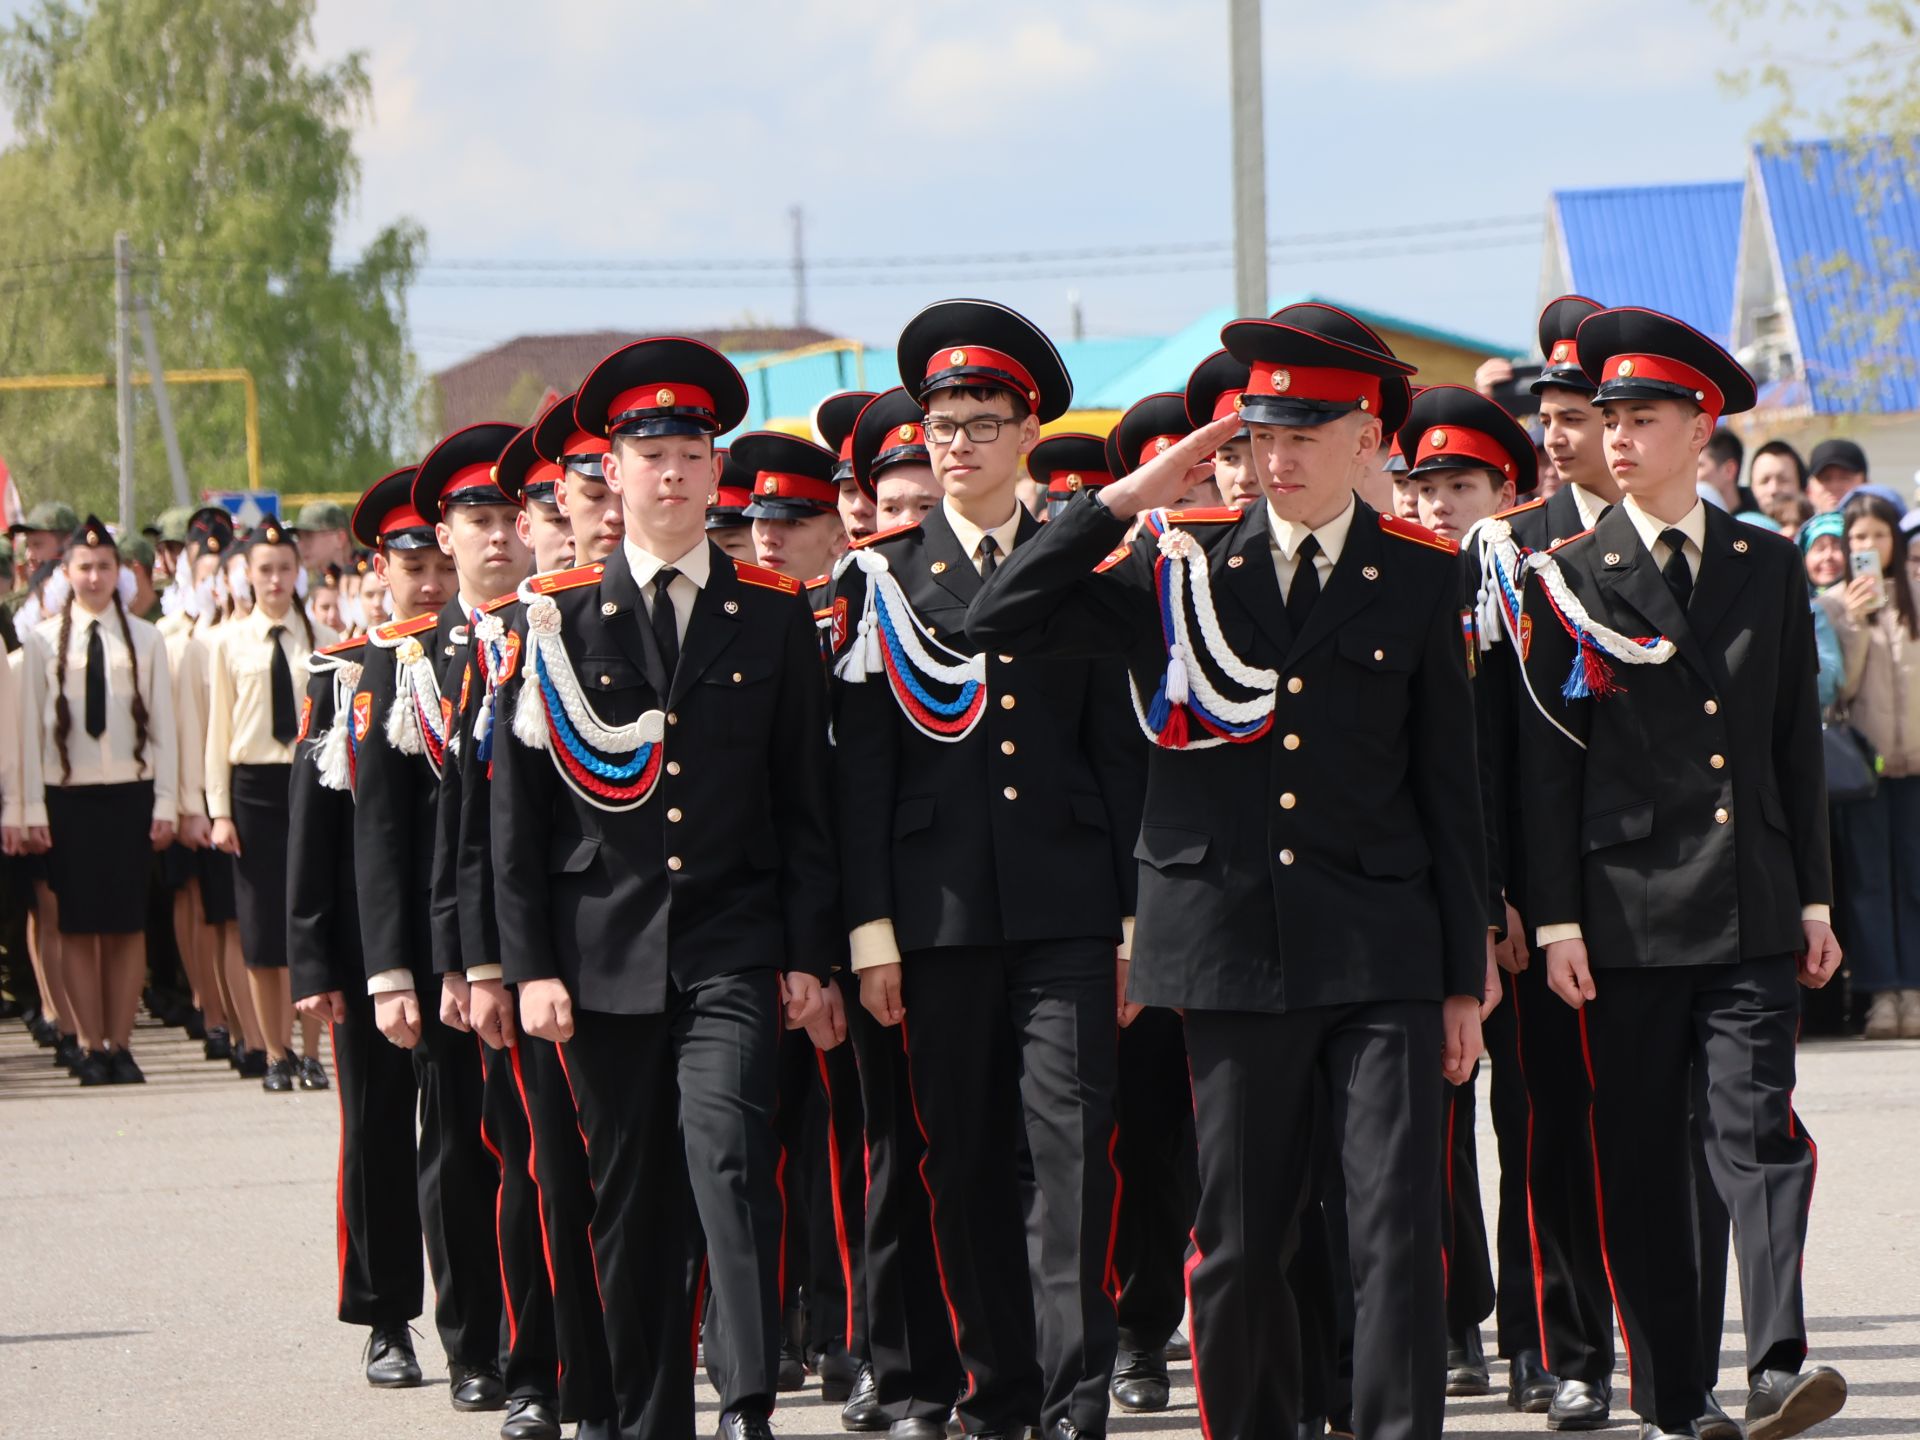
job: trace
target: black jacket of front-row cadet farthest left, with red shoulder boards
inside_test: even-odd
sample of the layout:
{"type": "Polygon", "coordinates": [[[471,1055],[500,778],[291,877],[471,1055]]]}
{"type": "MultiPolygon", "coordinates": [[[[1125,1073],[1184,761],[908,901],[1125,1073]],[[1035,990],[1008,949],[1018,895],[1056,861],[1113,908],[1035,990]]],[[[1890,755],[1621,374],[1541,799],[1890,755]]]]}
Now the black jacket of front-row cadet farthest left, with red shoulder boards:
{"type": "MultiPolygon", "coordinates": [[[[626,547],[536,582],[557,586],[566,657],[601,720],[666,712],[664,760],[643,804],[618,814],[589,804],[551,751],[511,733],[509,710],[495,720],[505,979],[563,979],[586,1010],[659,1014],[668,987],[749,970],[824,979],[845,948],[812,611],[795,582],[735,566],[710,543],[708,557],[670,685],[626,547]]],[[[522,655],[515,705],[540,703],[530,676],[522,655]]]]}

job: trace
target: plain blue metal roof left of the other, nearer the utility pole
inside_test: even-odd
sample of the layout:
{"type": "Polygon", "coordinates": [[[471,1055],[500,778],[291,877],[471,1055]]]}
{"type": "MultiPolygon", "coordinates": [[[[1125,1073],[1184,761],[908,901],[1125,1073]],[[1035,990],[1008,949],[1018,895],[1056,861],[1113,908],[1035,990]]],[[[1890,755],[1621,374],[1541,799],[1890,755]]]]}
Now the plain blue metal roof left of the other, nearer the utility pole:
{"type": "Polygon", "coordinates": [[[1555,190],[1574,292],[1645,305],[1728,342],[1740,259],[1740,180],[1555,190]]]}

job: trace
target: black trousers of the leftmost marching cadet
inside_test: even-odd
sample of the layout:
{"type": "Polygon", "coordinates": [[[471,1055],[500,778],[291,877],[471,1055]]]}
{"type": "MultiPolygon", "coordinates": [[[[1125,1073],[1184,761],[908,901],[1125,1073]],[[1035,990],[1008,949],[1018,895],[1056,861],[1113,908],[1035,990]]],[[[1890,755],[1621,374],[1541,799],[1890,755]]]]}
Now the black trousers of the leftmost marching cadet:
{"type": "Polygon", "coordinates": [[[403,1325],[420,1313],[420,1196],[413,1185],[413,1060],[374,1029],[365,985],[346,991],[334,1023],[340,1096],[340,1321],[403,1325]]]}

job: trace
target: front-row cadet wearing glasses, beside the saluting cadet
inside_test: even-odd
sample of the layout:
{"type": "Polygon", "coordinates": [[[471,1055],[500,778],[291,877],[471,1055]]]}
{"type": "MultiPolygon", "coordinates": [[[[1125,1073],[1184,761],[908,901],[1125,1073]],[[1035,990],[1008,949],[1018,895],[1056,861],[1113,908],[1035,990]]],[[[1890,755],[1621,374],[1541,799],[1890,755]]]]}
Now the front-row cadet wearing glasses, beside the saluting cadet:
{"type": "MultiPolygon", "coordinates": [[[[1041,534],[1016,499],[1020,461],[1073,390],[1044,334],[979,300],[924,309],[897,355],[945,499],[856,547],[833,589],[852,964],[874,1018],[904,1021],[941,1286],[972,1380],[962,1425],[1104,1434],[1114,973],[1137,818],[1123,768],[1139,741],[1116,666],[1010,660],[966,628],[983,580],[1041,534]],[[1037,887],[1035,852],[1073,883],[1037,887]]],[[[950,1400],[916,1394],[895,1434],[939,1434],[950,1400]]]]}

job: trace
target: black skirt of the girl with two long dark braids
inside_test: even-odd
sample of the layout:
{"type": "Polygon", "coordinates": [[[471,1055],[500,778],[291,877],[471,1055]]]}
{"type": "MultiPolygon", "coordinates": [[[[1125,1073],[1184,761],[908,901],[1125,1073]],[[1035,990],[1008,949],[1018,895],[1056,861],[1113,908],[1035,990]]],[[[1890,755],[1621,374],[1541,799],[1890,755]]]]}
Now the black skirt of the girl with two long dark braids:
{"type": "Polygon", "coordinates": [[[138,935],[154,874],[154,781],[48,785],[48,883],[61,935],[138,935]]]}

